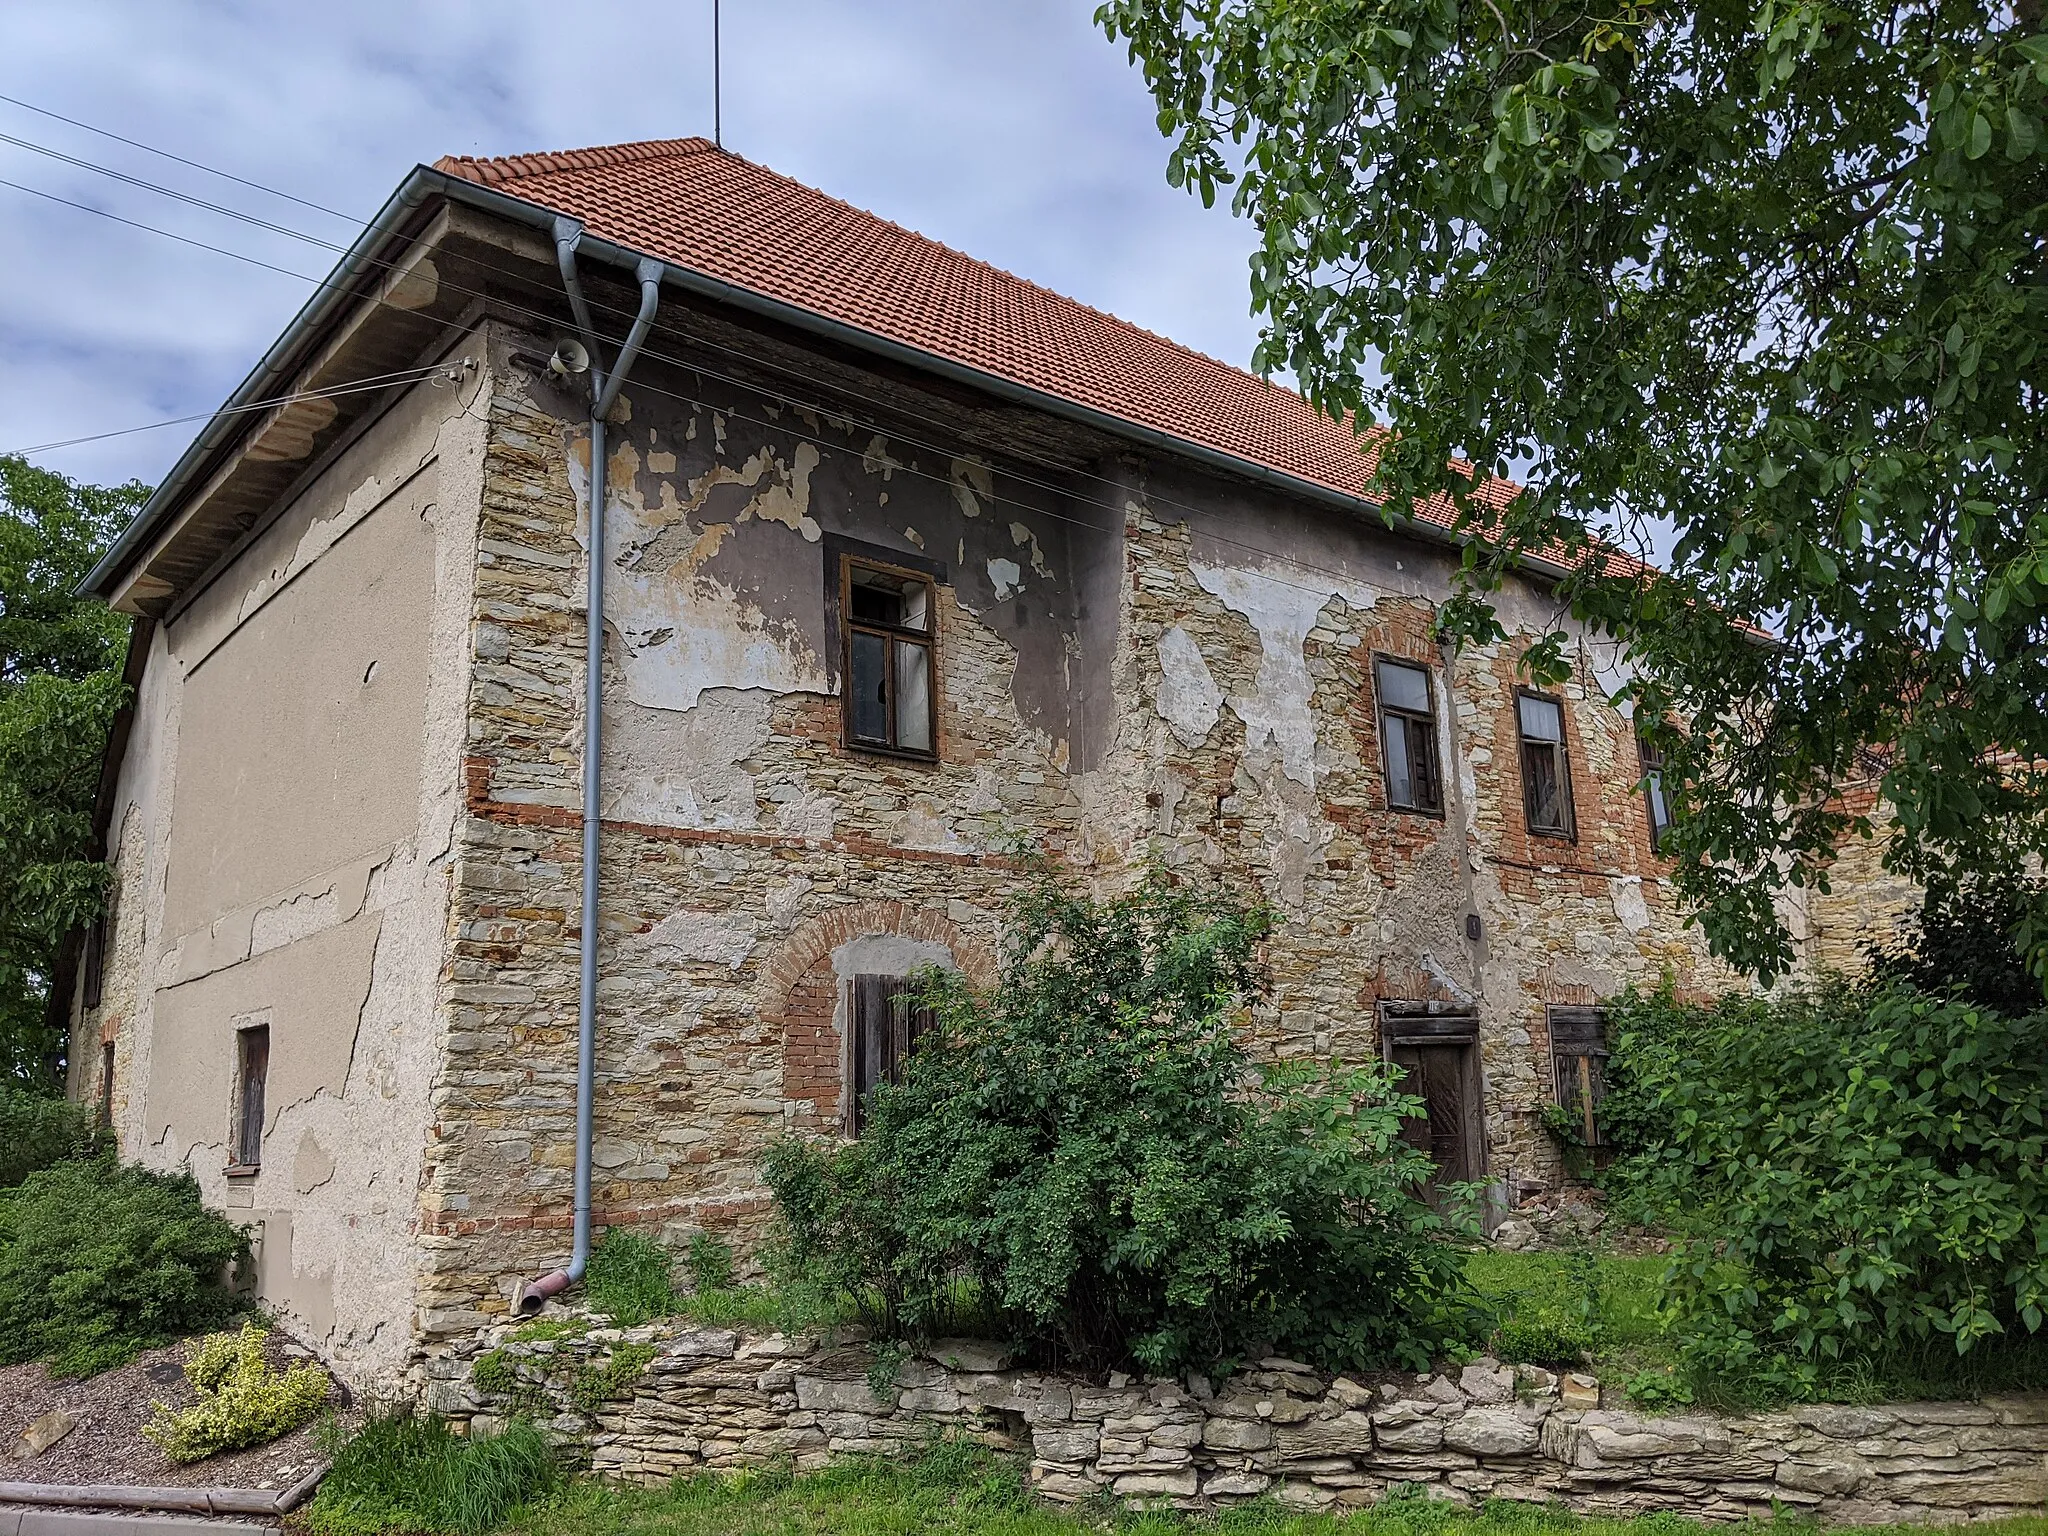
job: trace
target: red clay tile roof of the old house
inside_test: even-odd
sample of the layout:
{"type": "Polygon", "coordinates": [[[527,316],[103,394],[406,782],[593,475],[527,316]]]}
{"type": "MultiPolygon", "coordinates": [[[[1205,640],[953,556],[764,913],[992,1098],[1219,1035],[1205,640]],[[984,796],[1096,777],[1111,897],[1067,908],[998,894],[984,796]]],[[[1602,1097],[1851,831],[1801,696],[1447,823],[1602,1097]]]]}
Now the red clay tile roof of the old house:
{"type": "MultiPolygon", "coordinates": [[[[1370,459],[1292,389],[1026,283],[715,147],[653,139],[436,170],[893,342],[1346,496],[1370,459]]],[[[1432,518],[1440,520],[1440,518],[1432,518]]]]}

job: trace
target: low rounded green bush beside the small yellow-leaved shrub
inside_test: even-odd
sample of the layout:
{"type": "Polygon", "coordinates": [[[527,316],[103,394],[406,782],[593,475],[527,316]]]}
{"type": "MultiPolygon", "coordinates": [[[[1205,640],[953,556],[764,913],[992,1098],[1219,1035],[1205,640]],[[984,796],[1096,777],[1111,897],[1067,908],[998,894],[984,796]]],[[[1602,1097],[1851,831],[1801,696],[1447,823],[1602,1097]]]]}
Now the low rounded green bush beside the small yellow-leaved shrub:
{"type": "Polygon", "coordinates": [[[57,1163],[0,1194],[0,1364],[90,1376],[221,1323],[248,1235],[199,1204],[188,1174],[111,1155],[57,1163]]]}

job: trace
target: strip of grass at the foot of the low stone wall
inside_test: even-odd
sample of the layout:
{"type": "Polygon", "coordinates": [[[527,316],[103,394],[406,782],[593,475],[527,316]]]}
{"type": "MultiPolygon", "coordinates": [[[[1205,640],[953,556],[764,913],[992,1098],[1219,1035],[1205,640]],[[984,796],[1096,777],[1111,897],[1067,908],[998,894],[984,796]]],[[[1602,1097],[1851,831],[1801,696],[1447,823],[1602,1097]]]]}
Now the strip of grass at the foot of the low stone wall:
{"type": "MultiPolygon", "coordinates": [[[[1780,1526],[1772,1526],[1778,1530],[1780,1526]]],[[[1219,1516],[1034,1503],[1014,1466],[971,1442],[901,1460],[846,1460],[821,1473],[698,1475],[659,1489],[578,1483],[520,1509],[520,1536],[1696,1536],[1675,1516],[1589,1520],[1542,1505],[1458,1509],[1391,1497],[1346,1516],[1253,1503],[1219,1516]]],[[[1726,1532],[1726,1526],[1712,1528],[1726,1532]]],[[[1810,1532],[1810,1524],[1792,1532],[1810,1532]]],[[[1911,1528],[1927,1536],[1933,1528],[1911,1528]]],[[[2048,1520],[1982,1522],[1970,1536],[2048,1536],[2048,1520]]]]}

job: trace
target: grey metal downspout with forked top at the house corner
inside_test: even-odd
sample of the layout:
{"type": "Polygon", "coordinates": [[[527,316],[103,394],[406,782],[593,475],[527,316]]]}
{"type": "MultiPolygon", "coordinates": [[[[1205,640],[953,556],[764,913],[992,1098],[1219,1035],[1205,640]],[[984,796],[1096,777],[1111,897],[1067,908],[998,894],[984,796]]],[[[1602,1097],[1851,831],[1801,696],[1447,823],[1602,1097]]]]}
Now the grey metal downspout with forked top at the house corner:
{"type": "Polygon", "coordinates": [[[618,348],[618,362],[606,371],[598,352],[598,334],[590,324],[590,305],[575,272],[575,248],[584,225],[575,219],[555,219],[555,260],[561,285],[569,291],[569,311],[590,352],[590,551],[584,594],[584,922],[575,946],[575,1237],[569,1264],[520,1286],[518,1311],[530,1315],[584,1278],[590,1264],[590,1143],[596,1118],[598,1081],[598,784],[604,762],[604,416],[618,399],[618,387],[639,356],[653,313],[662,303],[662,272],[657,260],[643,260],[635,276],[641,285],[639,315],[618,348]]]}

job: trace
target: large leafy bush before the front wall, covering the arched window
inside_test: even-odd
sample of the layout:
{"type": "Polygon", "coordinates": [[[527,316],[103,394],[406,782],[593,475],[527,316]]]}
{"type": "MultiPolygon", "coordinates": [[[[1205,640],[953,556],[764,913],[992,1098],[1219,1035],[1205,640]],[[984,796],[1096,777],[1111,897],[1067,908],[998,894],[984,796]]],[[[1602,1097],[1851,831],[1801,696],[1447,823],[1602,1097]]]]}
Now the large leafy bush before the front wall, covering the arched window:
{"type": "Polygon", "coordinates": [[[963,1309],[1040,1360],[1212,1366],[1253,1341],[1423,1364],[1466,1325],[1458,1251],[1380,1065],[1255,1069],[1260,909],[1155,870],[1096,903],[1038,877],[999,983],[930,975],[934,1028],[852,1145],[766,1161],[778,1264],[885,1335],[963,1309]]]}

